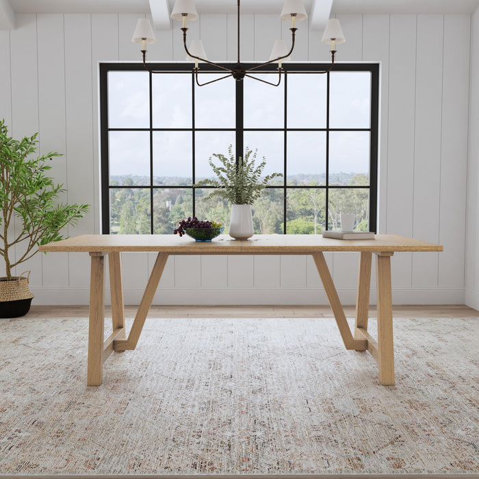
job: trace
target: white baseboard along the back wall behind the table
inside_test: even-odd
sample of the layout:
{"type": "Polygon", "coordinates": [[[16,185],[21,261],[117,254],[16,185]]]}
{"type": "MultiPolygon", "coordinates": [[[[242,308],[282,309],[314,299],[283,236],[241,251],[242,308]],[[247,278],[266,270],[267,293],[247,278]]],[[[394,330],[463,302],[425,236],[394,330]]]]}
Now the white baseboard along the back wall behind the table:
{"type": "MultiPolygon", "coordinates": [[[[87,288],[32,289],[36,305],[88,305],[87,288]]],[[[338,288],[344,305],[356,304],[356,288],[338,288]]],[[[142,289],[125,289],[125,304],[138,305],[142,289]]],[[[376,303],[376,289],[371,289],[370,301],[376,303]]],[[[393,288],[394,305],[464,305],[479,309],[479,295],[465,302],[464,288],[393,288]],[[474,302],[475,301],[475,302],[474,302]]],[[[105,303],[110,304],[109,290],[105,303]]],[[[322,288],[248,288],[248,289],[158,289],[155,305],[327,305],[322,288]]]]}

